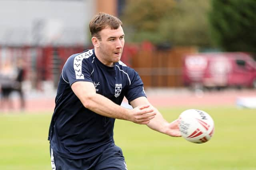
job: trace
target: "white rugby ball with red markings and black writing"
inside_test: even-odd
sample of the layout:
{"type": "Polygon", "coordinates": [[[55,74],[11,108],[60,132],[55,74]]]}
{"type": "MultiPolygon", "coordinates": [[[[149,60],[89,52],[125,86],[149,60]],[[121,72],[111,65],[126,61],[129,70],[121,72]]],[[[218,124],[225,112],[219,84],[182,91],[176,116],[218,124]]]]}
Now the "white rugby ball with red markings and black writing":
{"type": "Polygon", "coordinates": [[[214,121],[205,111],[188,109],[179,116],[179,129],[187,141],[205,143],[214,134],[214,121]]]}

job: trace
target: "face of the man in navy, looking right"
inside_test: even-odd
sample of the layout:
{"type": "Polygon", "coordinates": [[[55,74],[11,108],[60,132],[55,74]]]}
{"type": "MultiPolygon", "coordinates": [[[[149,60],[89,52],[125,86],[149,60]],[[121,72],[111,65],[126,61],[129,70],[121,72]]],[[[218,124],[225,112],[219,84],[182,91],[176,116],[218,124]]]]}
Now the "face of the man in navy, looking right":
{"type": "Polygon", "coordinates": [[[120,61],[124,47],[124,31],[122,27],[110,29],[106,27],[100,32],[101,41],[99,41],[100,57],[104,64],[112,66],[112,63],[120,61]]]}

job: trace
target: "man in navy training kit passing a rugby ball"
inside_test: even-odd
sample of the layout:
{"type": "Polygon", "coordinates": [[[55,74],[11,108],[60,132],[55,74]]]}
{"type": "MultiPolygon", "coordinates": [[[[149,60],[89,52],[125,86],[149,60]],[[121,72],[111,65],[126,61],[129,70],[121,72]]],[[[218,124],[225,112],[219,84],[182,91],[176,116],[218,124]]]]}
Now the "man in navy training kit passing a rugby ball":
{"type": "Polygon", "coordinates": [[[114,144],[115,119],[148,125],[179,137],[178,121],[168,123],[146,98],[140,76],[120,61],[122,22],[100,13],[90,21],[94,49],[74,54],[64,64],[49,137],[56,170],[127,170],[114,144]],[[120,104],[124,96],[133,109],[120,104]]]}

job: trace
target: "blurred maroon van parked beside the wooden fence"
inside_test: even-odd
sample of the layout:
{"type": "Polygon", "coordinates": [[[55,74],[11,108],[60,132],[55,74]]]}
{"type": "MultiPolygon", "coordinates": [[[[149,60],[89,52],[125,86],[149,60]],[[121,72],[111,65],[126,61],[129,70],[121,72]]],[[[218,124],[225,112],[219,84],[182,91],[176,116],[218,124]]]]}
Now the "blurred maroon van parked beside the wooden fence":
{"type": "Polygon", "coordinates": [[[186,86],[256,88],[256,61],[248,54],[198,53],[183,60],[186,86]]]}

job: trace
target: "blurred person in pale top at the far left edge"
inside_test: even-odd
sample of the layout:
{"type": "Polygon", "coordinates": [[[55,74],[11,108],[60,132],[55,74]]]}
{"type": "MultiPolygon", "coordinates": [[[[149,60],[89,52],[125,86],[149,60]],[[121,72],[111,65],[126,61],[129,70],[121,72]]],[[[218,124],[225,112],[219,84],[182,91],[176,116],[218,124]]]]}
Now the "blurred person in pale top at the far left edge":
{"type": "Polygon", "coordinates": [[[1,86],[1,109],[7,106],[9,109],[13,109],[13,102],[10,95],[15,86],[17,72],[10,59],[6,59],[4,65],[0,71],[0,86],[1,86]]]}

